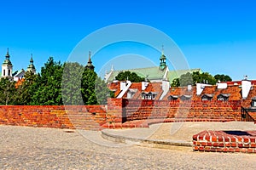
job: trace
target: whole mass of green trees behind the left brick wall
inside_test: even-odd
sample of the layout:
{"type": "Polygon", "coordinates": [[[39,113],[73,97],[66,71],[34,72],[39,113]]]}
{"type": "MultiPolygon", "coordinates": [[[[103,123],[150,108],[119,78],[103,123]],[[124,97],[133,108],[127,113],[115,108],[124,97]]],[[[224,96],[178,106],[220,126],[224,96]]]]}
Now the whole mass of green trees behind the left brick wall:
{"type": "Polygon", "coordinates": [[[17,83],[0,78],[0,105],[106,105],[111,92],[95,71],[53,57],[17,83]]]}

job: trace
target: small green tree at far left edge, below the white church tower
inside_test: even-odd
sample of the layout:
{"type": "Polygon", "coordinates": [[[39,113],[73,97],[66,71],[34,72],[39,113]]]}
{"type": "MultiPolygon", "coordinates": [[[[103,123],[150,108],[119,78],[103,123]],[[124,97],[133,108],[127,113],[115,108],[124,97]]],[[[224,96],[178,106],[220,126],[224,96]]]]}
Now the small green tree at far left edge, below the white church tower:
{"type": "Polygon", "coordinates": [[[9,78],[0,79],[0,104],[14,105],[15,82],[9,78]]]}

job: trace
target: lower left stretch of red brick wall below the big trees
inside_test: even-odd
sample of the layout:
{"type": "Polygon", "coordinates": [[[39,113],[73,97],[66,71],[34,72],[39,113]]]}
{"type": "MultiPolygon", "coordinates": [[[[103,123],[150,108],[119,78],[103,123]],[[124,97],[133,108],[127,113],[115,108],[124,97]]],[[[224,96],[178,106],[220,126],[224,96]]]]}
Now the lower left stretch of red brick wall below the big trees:
{"type": "Polygon", "coordinates": [[[0,124],[97,130],[106,122],[100,105],[1,105],[0,124]]]}

